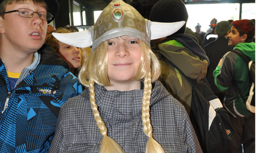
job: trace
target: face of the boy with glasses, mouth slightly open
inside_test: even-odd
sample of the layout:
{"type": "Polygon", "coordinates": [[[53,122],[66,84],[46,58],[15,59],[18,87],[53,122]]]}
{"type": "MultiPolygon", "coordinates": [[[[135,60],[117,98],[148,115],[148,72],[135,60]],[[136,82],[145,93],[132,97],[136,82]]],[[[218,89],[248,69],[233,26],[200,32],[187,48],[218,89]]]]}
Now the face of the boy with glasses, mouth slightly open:
{"type": "MultiPolygon", "coordinates": [[[[19,8],[30,9],[34,12],[46,11],[45,7],[27,0],[7,5],[5,12],[19,8]]],[[[1,45],[12,47],[10,49],[33,53],[45,42],[46,31],[47,21],[42,20],[37,13],[34,13],[32,18],[20,17],[18,12],[6,13],[4,18],[0,17],[1,45]]]]}

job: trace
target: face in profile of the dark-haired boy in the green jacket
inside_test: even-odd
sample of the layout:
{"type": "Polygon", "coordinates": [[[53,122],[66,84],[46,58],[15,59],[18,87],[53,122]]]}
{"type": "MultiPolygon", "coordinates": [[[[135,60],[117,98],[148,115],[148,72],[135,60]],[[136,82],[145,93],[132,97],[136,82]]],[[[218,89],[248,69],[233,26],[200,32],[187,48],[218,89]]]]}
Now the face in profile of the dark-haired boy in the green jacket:
{"type": "Polygon", "coordinates": [[[234,26],[232,26],[230,33],[228,34],[228,38],[229,38],[229,46],[236,46],[238,43],[244,42],[243,35],[239,36],[239,32],[234,26]]]}

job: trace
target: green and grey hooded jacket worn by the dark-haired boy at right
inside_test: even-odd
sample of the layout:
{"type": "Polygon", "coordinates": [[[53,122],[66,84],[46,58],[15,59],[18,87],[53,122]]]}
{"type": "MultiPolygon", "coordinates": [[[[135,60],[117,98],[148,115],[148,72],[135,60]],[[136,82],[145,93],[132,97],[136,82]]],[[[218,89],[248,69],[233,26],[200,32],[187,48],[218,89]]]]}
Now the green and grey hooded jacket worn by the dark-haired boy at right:
{"type": "MultiPolygon", "coordinates": [[[[239,49],[242,53],[248,56],[252,61],[255,62],[255,43],[239,43],[234,49],[239,49]]],[[[225,95],[224,104],[228,105],[235,101],[241,101],[240,105],[244,105],[244,102],[240,96],[237,96],[234,90],[234,82],[237,83],[238,87],[243,92],[244,98],[247,99],[249,95],[250,85],[249,85],[249,69],[248,63],[237,53],[228,52],[223,56],[222,64],[217,66],[215,71],[213,71],[214,81],[216,86],[221,90],[227,89],[225,95]]],[[[250,115],[247,109],[241,106],[240,111],[243,114],[250,115]]]]}

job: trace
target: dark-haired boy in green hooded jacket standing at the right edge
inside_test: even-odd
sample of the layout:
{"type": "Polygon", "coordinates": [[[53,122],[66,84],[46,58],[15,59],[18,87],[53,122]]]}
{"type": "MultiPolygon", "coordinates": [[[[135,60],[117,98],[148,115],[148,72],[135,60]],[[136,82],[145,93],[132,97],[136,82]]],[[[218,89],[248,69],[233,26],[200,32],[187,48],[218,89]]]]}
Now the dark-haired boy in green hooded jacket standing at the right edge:
{"type": "MultiPolygon", "coordinates": [[[[247,19],[234,21],[231,25],[229,46],[239,49],[255,62],[255,43],[252,42],[255,25],[247,19]]],[[[242,150],[243,153],[255,153],[255,114],[246,109],[245,103],[234,89],[237,84],[247,99],[250,90],[248,63],[237,53],[228,52],[220,59],[213,76],[216,86],[222,91],[227,90],[224,107],[237,132],[236,153],[242,153],[242,150]]]]}

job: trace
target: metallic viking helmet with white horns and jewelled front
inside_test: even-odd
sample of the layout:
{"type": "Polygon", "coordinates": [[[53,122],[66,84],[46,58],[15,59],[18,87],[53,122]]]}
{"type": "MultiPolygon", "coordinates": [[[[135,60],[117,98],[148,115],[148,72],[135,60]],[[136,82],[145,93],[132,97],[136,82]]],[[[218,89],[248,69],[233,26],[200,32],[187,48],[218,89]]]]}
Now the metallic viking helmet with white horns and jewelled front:
{"type": "Polygon", "coordinates": [[[122,35],[140,39],[150,46],[150,40],[163,38],[178,31],[185,21],[175,23],[151,22],[141,16],[134,7],[122,0],[112,0],[105,7],[94,26],[74,33],[52,33],[63,43],[75,47],[90,47],[94,51],[102,41],[122,35]]]}

